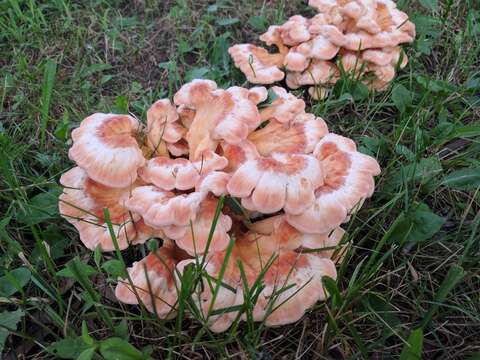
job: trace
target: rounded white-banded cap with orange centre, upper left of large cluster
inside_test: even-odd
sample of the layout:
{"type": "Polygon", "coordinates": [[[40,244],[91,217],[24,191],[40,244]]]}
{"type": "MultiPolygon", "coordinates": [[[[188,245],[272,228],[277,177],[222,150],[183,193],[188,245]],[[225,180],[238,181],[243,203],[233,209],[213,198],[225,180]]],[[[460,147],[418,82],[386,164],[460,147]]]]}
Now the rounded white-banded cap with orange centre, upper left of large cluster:
{"type": "Polygon", "coordinates": [[[88,176],[110,187],[127,187],[145,163],[135,135],[139,124],[127,115],[94,114],[72,131],[68,155],[88,176]]]}

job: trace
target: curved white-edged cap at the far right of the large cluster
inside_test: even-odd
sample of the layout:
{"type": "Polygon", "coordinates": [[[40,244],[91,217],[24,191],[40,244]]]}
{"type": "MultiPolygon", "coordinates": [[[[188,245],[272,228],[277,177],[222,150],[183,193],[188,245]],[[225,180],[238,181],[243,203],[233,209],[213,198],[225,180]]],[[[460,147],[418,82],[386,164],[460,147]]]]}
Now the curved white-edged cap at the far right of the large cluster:
{"type": "Polygon", "coordinates": [[[374,158],[357,152],[352,140],[336,134],[320,140],[314,154],[321,161],[325,183],[315,191],[313,205],[301,214],[287,213],[287,221],[302,232],[322,234],[346,221],[372,195],[380,167],[374,158]]]}

